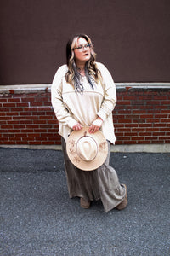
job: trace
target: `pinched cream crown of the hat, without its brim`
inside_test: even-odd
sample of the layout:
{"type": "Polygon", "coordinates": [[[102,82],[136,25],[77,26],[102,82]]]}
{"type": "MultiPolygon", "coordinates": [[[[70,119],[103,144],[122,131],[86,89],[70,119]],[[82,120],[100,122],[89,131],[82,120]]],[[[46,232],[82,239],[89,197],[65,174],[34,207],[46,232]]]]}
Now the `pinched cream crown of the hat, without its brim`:
{"type": "Polygon", "coordinates": [[[84,136],[77,141],[77,155],[84,161],[92,161],[98,154],[98,145],[93,137],[84,136]]]}

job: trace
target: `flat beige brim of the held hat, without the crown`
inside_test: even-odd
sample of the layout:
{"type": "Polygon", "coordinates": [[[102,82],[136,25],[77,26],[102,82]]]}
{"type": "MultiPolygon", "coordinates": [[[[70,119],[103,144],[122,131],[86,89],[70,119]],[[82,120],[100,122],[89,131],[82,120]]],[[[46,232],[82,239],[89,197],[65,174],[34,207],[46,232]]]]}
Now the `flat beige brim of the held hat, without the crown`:
{"type": "Polygon", "coordinates": [[[99,166],[102,166],[108,154],[108,145],[105,136],[101,131],[96,131],[95,133],[88,132],[89,127],[82,127],[81,130],[72,131],[71,135],[67,139],[66,151],[69,159],[74,166],[83,171],[93,171],[99,166]],[[94,138],[98,151],[94,160],[86,161],[82,160],[77,154],[77,142],[81,137],[88,136],[94,138]]]}

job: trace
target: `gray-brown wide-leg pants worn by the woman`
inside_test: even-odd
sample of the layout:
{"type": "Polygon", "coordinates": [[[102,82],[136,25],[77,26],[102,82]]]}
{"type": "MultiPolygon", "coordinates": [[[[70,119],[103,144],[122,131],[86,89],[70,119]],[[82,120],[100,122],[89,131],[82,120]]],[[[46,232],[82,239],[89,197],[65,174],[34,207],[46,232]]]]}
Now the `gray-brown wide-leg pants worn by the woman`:
{"type": "Polygon", "coordinates": [[[105,163],[94,171],[82,171],[74,166],[66,153],[65,139],[62,148],[65,160],[65,173],[70,198],[78,196],[86,201],[101,200],[105,212],[119,205],[126,194],[126,189],[119,183],[116,171],[109,165],[111,143],[108,142],[108,155],[105,163]]]}

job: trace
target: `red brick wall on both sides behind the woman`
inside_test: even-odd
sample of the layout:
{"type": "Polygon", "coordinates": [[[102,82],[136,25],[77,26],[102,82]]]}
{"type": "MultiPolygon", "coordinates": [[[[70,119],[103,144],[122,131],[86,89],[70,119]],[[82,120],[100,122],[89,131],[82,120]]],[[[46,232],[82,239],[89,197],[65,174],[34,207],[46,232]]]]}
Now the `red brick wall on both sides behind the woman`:
{"type": "MultiPolygon", "coordinates": [[[[116,144],[170,143],[170,90],[117,89],[116,144]]],[[[0,93],[1,145],[59,145],[50,91],[0,93]]]]}

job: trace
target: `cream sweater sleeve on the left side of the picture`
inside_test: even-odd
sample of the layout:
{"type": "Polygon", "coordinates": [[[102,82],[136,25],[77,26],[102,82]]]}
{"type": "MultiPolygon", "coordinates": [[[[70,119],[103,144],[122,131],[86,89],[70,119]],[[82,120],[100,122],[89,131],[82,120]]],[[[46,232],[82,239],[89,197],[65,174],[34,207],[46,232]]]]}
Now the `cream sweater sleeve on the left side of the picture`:
{"type": "Polygon", "coordinates": [[[66,65],[59,67],[58,71],[55,73],[51,86],[51,102],[59,123],[72,128],[77,124],[77,120],[72,118],[62,98],[62,80],[65,79],[65,73],[66,65]]]}

